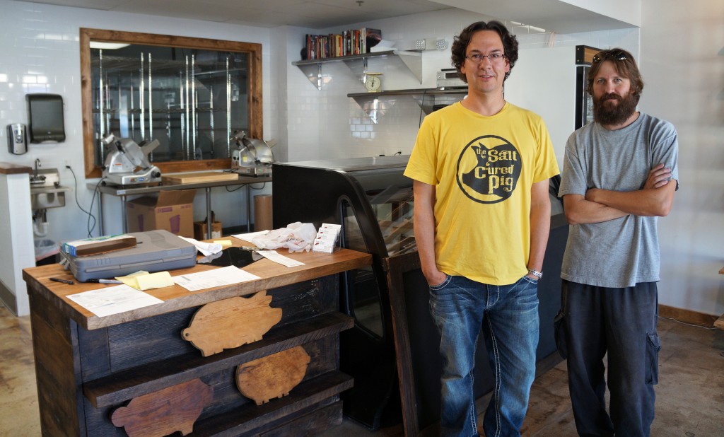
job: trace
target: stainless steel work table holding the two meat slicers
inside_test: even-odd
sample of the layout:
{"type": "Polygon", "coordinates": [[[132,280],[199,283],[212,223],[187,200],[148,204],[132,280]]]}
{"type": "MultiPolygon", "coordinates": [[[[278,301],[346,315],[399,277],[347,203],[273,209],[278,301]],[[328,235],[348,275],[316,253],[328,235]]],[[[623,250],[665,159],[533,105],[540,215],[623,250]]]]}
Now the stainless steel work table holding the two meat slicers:
{"type": "Polygon", "coordinates": [[[271,182],[271,177],[239,177],[239,179],[228,180],[228,181],[214,181],[214,182],[197,182],[193,184],[159,184],[143,187],[135,187],[131,185],[98,185],[98,182],[92,184],[88,183],[86,186],[95,191],[98,190],[98,227],[101,235],[105,235],[103,225],[103,195],[109,194],[121,198],[121,217],[122,217],[122,232],[128,232],[127,216],[126,216],[126,202],[128,196],[132,195],[144,195],[159,191],[168,190],[206,190],[206,238],[211,239],[211,188],[214,187],[227,187],[234,185],[245,185],[246,187],[246,230],[251,231],[251,187],[250,184],[271,182]]]}

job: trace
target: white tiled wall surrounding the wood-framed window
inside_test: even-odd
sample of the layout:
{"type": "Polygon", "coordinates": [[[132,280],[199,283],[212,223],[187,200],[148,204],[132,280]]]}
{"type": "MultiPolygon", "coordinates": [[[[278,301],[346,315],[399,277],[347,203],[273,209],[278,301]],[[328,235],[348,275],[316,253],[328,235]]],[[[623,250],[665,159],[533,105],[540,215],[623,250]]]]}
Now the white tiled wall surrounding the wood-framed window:
{"type": "MultiPolygon", "coordinates": [[[[230,41],[261,43],[264,87],[264,137],[279,140],[279,126],[274,124],[271,108],[277,108],[277,89],[272,88],[277,70],[271,69],[271,31],[261,27],[224,25],[215,22],[182,20],[158,16],[124,14],[91,9],[55,7],[12,0],[0,0],[4,24],[0,27],[0,137],[7,143],[5,125],[28,124],[26,93],[55,93],[63,97],[66,140],[57,144],[30,144],[25,155],[12,155],[0,148],[0,161],[32,166],[35,158],[44,168],[61,170],[63,185],[74,187],[73,174],[65,169],[68,163],[77,178],[77,198],[83,209],[90,208],[92,191],[83,171],[83,132],[80,103],[80,49],[78,29],[91,27],[131,32],[193,36],[230,41]]],[[[286,148],[285,144],[279,145],[286,148]]],[[[261,184],[259,184],[261,187],[261,184]]],[[[230,187],[233,189],[234,187],[230,187]]],[[[270,192],[266,184],[264,192],[270,192]]],[[[258,192],[253,192],[258,194],[258,192]]],[[[224,226],[245,224],[245,190],[227,192],[214,188],[211,208],[224,226]]],[[[88,216],[75,204],[73,192],[67,193],[66,205],[47,211],[48,238],[55,241],[86,237],[88,216]]],[[[97,202],[93,205],[96,211],[97,202]]],[[[105,233],[120,232],[120,202],[118,198],[104,196],[105,233]]],[[[194,217],[206,216],[206,198],[203,190],[194,200],[194,217]]],[[[98,228],[93,232],[98,235],[98,228]]]]}

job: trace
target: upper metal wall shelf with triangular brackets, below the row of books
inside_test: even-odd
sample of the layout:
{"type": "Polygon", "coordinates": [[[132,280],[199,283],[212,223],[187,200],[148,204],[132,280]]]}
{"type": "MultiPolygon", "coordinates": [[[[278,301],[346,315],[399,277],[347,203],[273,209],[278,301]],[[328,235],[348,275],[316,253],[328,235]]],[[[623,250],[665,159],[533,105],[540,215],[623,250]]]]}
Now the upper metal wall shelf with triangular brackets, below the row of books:
{"type": "Polygon", "coordinates": [[[356,54],[350,56],[334,56],[331,58],[322,59],[303,59],[302,61],[294,61],[292,65],[296,65],[306,75],[309,82],[312,83],[318,90],[324,86],[324,76],[322,75],[322,64],[329,62],[343,61],[352,70],[355,75],[358,75],[361,82],[365,82],[367,79],[367,61],[372,58],[383,58],[383,57],[397,57],[405,64],[408,69],[412,72],[417,80],[422,83],[422,53],[419,51],[378,51],[366,54],[356,54]]]}

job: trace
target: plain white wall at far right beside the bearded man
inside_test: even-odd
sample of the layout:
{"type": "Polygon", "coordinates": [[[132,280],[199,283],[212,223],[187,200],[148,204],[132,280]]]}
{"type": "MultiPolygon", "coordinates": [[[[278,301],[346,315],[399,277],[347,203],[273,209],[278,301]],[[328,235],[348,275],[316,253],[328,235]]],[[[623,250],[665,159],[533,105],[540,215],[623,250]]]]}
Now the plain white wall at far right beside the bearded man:
{"type": "Polygon", "coordinates": [[[639,108],[678,131],[673,210],[659,221],[660,302],[724,313],[724,1],[644,1],[639,108]]]}

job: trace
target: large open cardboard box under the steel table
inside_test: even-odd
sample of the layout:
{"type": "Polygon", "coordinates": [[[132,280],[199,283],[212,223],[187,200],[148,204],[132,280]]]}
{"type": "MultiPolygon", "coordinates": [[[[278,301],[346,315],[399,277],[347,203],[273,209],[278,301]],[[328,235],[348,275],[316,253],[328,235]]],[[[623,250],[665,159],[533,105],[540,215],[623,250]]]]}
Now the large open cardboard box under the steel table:
{"type": "Polygon", "coordinates": [[[143,196],[126,202],[128,232],[165,229],[193,237],[193,197],[196,190],[161,191],[158,198],[143,196]]]}

